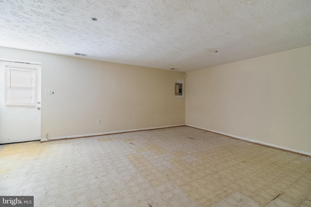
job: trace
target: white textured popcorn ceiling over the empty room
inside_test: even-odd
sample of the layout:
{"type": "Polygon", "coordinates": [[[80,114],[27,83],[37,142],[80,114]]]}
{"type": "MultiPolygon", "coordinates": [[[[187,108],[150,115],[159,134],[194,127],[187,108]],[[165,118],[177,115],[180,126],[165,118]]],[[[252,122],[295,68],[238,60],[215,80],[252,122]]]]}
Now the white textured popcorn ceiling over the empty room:
{"type": "Polygon", "coordinates": [[[7,48],[191,71],[309,45],[310,0],[0,0],[7,48]]]}

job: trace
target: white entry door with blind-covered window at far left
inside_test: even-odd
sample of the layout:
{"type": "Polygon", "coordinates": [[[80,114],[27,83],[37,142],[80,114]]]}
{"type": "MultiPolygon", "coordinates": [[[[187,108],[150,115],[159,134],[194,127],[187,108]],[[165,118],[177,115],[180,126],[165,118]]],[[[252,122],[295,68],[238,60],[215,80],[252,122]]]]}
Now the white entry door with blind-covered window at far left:
{"type": "MultiPolygon", "coordinates": [[[[22,80],[24,81],[24,80],[22,80]]],[[[25,81],[24,81],[25,82],[25,81]]],[[[27,81],[26,81],[27,82],[27,81]]],[[[0,60],[0,143],[17,143],[41,139],[41,64],[5,62],[0,60]],[[34,75],[24,75],[29,74],[34,75]],[[21,75],[13,75],[21,74],[21,75]],[[31,81],[31,87],[24,83],[13,83],[26,76],[31,81]],[[34,76],[34,78],[32,78],[34,76]],[[34,82],[32,82],[34,81],[34,82]],[[9,84],[9,85],[8,85],[9,84]],[[15,91],[12,92],[12,88],[15,91]],[[25,89],[27,88],[27,89],[25,89]],[[32,89],[30,89],[32,88],[32,89]],[[32,90],[32,92],[29,92],[32,90]],[[25,92],[24,92],[25,91],[25,92]],[[14,94],[14,100],[10,102],[14,94]],[[18,95],[16,95],[18,94],[18,95]],[[22,96],[21,99],[16,96],[22,96]],[[32,103],[23,103],[22,98],[29,96],[32,103]],[[14,105],[14,106],[13,106],[14,105]]]]}

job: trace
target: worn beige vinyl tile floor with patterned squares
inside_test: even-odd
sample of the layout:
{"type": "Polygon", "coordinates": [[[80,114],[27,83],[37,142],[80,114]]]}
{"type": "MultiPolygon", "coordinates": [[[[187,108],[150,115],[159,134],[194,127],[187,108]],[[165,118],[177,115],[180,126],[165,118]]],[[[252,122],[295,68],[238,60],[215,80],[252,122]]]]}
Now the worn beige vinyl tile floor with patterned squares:
{"type": "Polygon", "coordinates": [[[311,207],[311,158],[192,127],[0,145],[35,207],[311,207]]]}

